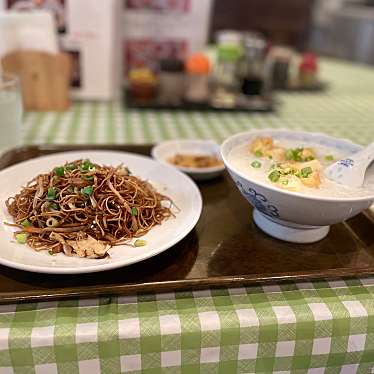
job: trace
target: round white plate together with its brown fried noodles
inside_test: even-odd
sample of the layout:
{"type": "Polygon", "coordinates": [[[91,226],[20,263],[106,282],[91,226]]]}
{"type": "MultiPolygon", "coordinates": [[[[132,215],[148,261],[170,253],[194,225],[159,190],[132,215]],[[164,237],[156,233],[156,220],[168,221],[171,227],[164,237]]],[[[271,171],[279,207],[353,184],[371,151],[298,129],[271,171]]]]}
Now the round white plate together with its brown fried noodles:
{"type": "Polygon", "coordinates": [[[189,177],[131,153],[57,153],[0,177],[0,263],[39,273],[89,273],[145,260],[183,239],[202,209],[189,177]]]}

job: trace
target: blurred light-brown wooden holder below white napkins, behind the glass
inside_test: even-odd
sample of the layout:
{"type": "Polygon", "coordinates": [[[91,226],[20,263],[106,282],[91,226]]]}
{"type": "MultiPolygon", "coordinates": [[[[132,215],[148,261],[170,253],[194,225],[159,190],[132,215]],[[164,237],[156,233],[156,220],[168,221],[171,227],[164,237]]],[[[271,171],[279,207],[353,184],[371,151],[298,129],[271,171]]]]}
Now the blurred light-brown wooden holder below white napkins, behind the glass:
{"type": "Polygon", "coordinates": [[[69,108],[72,63],[64,53],[12,52],[2,58],[3,70],[20,78],[25,110],[63,111],[69,108]]]}

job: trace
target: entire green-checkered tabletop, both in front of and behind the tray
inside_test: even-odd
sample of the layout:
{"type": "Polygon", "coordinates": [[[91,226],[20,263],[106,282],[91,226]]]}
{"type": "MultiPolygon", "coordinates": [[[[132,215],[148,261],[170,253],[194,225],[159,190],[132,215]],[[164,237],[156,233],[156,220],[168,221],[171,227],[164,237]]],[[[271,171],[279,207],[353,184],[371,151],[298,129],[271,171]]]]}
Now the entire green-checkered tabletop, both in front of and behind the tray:
{"type": "MultiPolygon", "coordinates": [[[[26,113],[23,142],[221,141],[265,127],[371,142],[374,69],[323,59],[321,77],[328,90],[280,93],[272,113],[26,113]]],[[[373,373],[374,277],[0,306],[0,374],[78,372],[373,373]]]]}

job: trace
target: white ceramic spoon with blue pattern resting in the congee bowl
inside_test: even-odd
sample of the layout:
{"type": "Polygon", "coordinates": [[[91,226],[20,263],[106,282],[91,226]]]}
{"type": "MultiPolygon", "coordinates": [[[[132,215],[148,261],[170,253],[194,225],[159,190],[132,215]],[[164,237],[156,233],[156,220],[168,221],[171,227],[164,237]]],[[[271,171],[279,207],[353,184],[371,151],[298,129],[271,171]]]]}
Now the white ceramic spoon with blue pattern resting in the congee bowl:
{"type": "Polygon", "coordinates": [[[325,175],[340,184],[350,187],[361,187],[365,172],[374,160],[374,142],[351,157],[339,160],[325,169],[325,175]]]}

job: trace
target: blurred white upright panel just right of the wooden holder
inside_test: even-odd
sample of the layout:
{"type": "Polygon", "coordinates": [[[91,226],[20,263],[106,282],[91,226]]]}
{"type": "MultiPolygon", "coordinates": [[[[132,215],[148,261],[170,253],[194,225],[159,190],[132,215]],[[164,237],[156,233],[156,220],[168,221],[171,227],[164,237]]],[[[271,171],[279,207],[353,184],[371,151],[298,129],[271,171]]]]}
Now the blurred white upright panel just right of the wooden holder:
{"type": "Polygon", "coordinates": [[[76,63],[74,98],[112,100],[120,95],[120,13],[120,0],[66,1],[67,32],[60,38],[76,63]]]}

